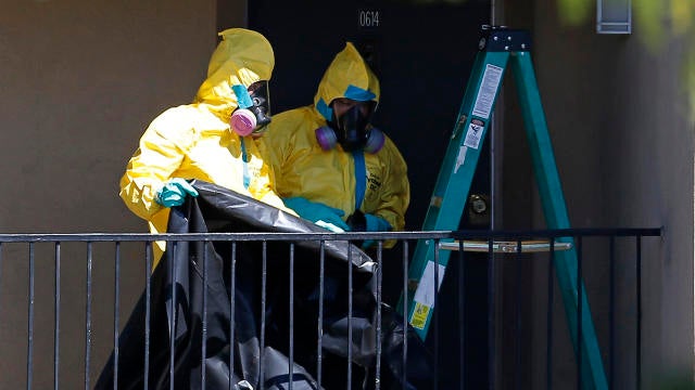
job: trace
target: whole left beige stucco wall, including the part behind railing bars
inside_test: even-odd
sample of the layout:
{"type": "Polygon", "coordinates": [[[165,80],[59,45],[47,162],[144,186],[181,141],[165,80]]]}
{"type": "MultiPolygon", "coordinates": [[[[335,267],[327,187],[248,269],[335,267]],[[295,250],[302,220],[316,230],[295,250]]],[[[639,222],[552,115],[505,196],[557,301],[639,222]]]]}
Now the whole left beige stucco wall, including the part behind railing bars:
{"type": "MultiPolygon", "coordinates": [[[[0,231],[144,232],[118,179],[144,127],[190,102],[219,21],[245,23],[241,1],[31,0],[0,12],[0,231]],[[218,10],[225,14],[219,15],[218,10]],[[239,12],[241,11],[241,12],[239,12]]],[[[52,387],[53,248],[37,247],[33,388],[52,387]]],[[[86,249],[61,248],[60,387],[84,387],[86,249]]],[[[93,248],[93,376],[113,338],[113,248],[93,248]],[[97,288],[94,288],[97,290],[97,288]]],[[[142,288],[142,247],[122,248],[122,320],[142,288]],[[137,259],[137,260],[136,260],[137,259]],[[135,260],[135,261],[134,261],[135,260]]],[[[28,248],[0,258],[0,389],[26,379],[28,248]]],[[[93,385],[93,381],[92,381],[93,385]]]]}

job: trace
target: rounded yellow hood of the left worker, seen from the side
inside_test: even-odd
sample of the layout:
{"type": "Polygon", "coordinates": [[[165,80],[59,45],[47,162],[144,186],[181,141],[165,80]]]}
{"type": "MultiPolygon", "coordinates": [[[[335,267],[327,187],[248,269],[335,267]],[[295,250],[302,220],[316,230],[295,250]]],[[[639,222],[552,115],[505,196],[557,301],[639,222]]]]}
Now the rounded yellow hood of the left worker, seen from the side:
{"type": "Polygon", "coordinates": [[[261,80],[269,80],[275,66],[270,42],[260,32],[244,28],[229,28],[218,34],[217,46],[207,65],[207,78],[195,94],[194,103],[204,103],[228,121],[238,107],[232,86],[249,88],[261,80]],[[254,70],[251,70],[254,69],[254,70]]]}

